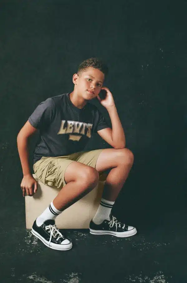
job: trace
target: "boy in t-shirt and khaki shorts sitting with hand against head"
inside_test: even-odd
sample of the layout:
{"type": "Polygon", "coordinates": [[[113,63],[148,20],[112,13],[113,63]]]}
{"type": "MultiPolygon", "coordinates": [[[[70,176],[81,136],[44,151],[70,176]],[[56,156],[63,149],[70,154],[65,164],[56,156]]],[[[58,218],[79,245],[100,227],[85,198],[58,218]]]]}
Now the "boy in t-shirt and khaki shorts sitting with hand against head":
{"type": "Polygon", "coordinates": [[[89,58],[79,65],[73,75],[74,90],[41,102],[17,136],[18,152],[23,169],[21,188],[23,196],[37,190],[28,162],[27,139],[40,131],[33,169],[44,184],[61,189],[46,210],[32,226],[32,234],[55,250],[70,250],[72,243],[60,233],[55,218],[63,210],[96,187],[99,173],[111,169],[104,185],[103,195],[90,221],[90,233],[128,237],[136,228],[122,224],[111,210],[132,168],[134,156],[125,148],[125,134],[117,114],[112,93],[103,87],[107,66],[98,58],[89,58]],[[101,99],[101,89],[106,97],[101,99]],[[112,129],[98,108],[89,100],[97,98],[108,110],[112,129]],[[113,148],[83,151],[93,133],[98,133],[113,148]]]}

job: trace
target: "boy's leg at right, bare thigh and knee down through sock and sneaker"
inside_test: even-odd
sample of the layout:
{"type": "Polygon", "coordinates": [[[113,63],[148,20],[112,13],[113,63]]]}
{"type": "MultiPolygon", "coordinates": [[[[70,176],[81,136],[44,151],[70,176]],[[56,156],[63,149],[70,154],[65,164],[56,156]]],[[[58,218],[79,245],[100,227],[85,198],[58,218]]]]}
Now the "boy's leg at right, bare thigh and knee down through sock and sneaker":
{"type": "Polygon", "coordinates": [[[90,222],[90,233],[112,234],[118,237],[132,236],[136,228],[122,224],[111,215],[114,202],[132,168],[134,156],[129,149],[103,149],[99,155],[96,170],[111,169],[104,185],[103,195],[93,220],[90,222]]]}

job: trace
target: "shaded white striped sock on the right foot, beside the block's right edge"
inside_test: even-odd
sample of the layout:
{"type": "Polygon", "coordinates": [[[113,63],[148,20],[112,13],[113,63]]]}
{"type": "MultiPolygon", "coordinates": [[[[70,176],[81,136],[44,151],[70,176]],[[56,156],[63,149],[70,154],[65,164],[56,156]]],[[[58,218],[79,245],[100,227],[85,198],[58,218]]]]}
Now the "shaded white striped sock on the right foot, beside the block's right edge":
{"type": "Polygon", "coordinates": [[[110,220],[110,212],[114,205],[115,201],[101,199],[100,205],[96,212],[96,215],[93,217],[93,222],[95,224],[101,224],[103,220],[110,220]]]}

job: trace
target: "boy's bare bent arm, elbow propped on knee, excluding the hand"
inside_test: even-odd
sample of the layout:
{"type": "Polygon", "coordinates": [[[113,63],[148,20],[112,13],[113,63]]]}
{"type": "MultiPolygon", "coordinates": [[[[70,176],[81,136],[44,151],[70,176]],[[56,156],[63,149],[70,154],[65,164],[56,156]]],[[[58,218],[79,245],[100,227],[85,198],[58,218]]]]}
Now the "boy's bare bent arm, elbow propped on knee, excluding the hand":
{"type": "Polygon", "coordinates": [[[126,140],[125,134],[117,114],[116,106],[110,106],[106,108],[111,119],[112,129],[105,128],[98,131],[98,134],[115,149],[125,148],[126,140]]]}

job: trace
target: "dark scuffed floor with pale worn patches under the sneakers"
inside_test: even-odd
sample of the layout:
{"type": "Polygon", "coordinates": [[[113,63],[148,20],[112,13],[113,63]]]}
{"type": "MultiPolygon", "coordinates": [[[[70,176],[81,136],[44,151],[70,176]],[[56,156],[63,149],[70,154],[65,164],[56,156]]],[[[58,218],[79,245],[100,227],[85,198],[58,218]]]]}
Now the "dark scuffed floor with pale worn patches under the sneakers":
{"type": "Polygon", "coordinates": [[[136,225],[137,235],[123,239],[63,230],[73,242],[69,251],[51,250],[20,221],[22,227],[11,223],[12,230],[1,230],[0,282],[186,283],[186,220],[184,209],[155,216],[152,223],[147,214],[136,225]]]}

